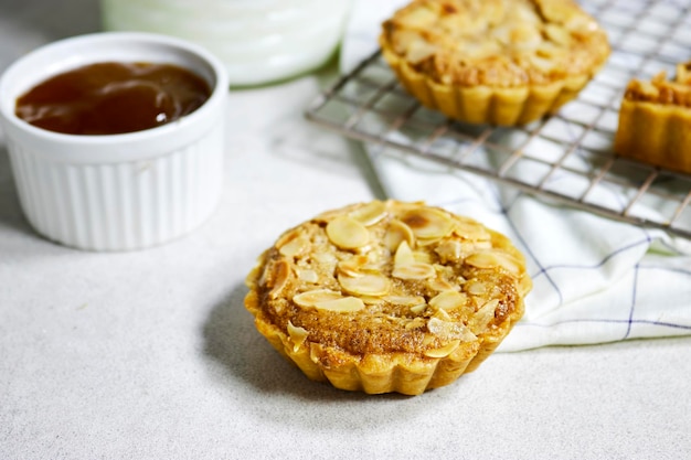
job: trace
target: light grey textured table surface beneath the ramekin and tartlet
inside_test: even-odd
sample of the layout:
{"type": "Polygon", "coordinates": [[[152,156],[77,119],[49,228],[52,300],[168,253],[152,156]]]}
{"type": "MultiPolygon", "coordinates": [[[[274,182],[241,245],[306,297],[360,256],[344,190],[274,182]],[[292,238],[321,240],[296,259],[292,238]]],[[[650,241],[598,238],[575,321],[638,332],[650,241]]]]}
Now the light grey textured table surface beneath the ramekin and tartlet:
{"type": "MultiPolygon", "coordinates": [[[[95,0],[0,0],[0,71],[97,30],[95,0]]],[[[691,458],[691,338],[498,353],[417,397],[311,383],[270,349],[243,307],[255,257],[382,197],[360,146],[302,118],[333,67],[232,89],[219,210],[142,252],[36,236],[0,133],[0,459],[691,458]]]]}

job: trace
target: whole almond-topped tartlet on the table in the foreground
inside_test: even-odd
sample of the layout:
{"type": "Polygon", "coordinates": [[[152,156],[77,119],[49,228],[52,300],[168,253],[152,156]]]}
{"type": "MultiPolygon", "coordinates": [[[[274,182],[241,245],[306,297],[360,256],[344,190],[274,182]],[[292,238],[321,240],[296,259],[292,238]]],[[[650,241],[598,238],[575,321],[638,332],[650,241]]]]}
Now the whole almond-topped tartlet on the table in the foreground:
{"type": "Polygon", "coordinates": [[[285,232],[246,278],[245,307],[312,381],[419,395],[474,371],[523,314],[523,255],[422,202],[372,201],[285,232]]]}

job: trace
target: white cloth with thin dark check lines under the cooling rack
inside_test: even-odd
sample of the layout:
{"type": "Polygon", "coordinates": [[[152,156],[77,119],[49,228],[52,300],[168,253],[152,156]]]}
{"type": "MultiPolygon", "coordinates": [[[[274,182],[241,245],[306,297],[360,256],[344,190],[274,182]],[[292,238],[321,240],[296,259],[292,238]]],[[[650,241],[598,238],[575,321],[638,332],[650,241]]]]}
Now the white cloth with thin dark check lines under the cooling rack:
{"type": "MultiPolygon", "coordinates": [[[[343,72],[376,50],[381,22],[404,1],[354,1],[341,47],[343,72]]],[[[390,197],[471,216],[525,255],[534,287],[523,319],[498,351],[691,334],[689,239],[556,205],[391,148],[365,147],[390,197]]],[[[607,199],[619,199],[610,193],[607,199]]]]}

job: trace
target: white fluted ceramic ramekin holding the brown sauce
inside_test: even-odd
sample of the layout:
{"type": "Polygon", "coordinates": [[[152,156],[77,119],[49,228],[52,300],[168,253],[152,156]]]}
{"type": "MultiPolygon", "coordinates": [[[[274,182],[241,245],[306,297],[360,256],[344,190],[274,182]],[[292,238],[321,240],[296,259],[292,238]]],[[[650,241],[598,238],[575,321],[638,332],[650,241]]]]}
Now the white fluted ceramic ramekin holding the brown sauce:
{"type": "Polygon", "coordinates": [[[40,47],[0,77],[0,119],[22,210],[36,232],[92,250],[141,249],[180,237],[215,210],[222,192],[227,74],[187,41],[148,33],[81,35],[40,47]],[[184,66],[210,84],[209,100],[157,128],[75,136],[14,115],[35,84],[94,62],[184,66]]]}

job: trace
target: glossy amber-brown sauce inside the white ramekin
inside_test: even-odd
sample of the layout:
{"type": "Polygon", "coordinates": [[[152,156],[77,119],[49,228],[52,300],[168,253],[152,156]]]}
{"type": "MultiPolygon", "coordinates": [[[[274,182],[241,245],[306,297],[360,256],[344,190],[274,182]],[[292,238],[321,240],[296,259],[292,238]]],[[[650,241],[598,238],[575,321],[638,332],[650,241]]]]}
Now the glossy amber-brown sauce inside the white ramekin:
{"type": "Polygon", "coordinates": [[[172,64],[103,62],[53,76],[17,99],[19,118],[67,135],[118,135],[174,121],[211,95],[206,82],[172,64]]]}

